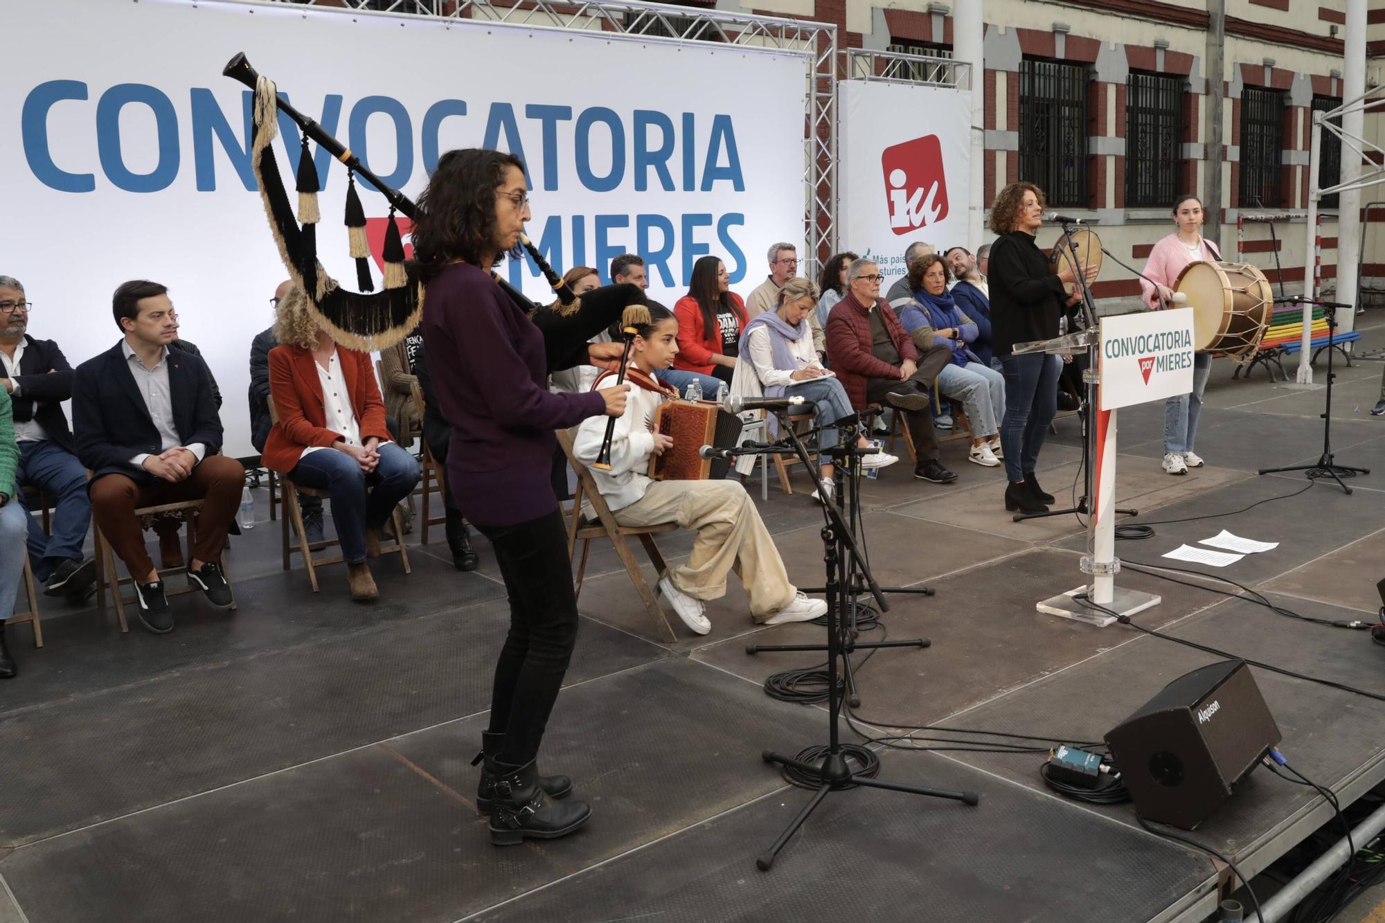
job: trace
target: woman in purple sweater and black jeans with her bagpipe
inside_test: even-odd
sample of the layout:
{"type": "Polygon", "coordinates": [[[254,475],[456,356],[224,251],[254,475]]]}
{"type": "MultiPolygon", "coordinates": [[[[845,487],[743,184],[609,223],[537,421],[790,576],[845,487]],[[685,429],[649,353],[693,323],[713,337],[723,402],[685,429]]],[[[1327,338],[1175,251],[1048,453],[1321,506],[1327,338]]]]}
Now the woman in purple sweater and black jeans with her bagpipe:
{"type": "Polygon", "coordinates": [[[643,304],[636,285],[609,285],[580,301],[524,237],[529,205],[524,164],[500,151],[449,151],[438,161],[416,206],[385,186],[339,141],[277,97],[273,82],[255,73],[244,55],[226,67],[255,89],[253,159],[260,197],[280,255],[307,294],[309,309],[334,340],[374,351],[403,338],[422,317],[425,351],[443,417],[452,424],[449,485],[465,517],[490,539],[510,596],[510,633],[496,662],[490,726],[482,735],[485,759],[476,807],[490,815],[490,838],[500,845],[526,837],[553,838],[590,816],[586,804],[554,801],[572,791],[565,776],[540,776],[535,766],[578,628],[566,534],[550,485],[554,430],[590,416],[619,416],[627,387],[554,395],[550,371],[590,359],[614,359],[620,344],[587,340],[643,304]],[[299,158],[299,220],[283,190],[270,143],[276,107],[305,132],[299,158]],[[348,168],[346,227],[359,287],[368,291],[370,252],[364,212],[353,173],[391,202],[385,234],[385,287],[349,292],[317,262],[319,180],[310,140],[348,168]],[[416,261],[404,263],[395,211],[414,220],[416,261]],[[492,270],[524,245],[554,284],[560,309],[539,309],[492,270]],[[427,308],[425,308],[427,304],[427,308]]]}

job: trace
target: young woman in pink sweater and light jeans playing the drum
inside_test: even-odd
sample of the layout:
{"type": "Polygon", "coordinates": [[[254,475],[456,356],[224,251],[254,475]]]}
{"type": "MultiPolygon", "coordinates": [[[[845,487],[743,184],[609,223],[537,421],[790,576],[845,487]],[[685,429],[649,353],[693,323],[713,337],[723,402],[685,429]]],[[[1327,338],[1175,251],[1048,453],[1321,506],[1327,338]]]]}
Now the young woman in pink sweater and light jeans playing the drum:
{"type": "MultiPolygon", "coordinates": [[[[1173,284],[1188,263],[1199,259],[1220,262],[1222,254],[1202,237],[1206,212],[1197,195],[1180,195],[1173,202],[1173,223],[1177,227],[1150,251],[1144,265],[1145,279],[1140,280],[1144,301],[1155,310],[1173,304],[1173,284]]],[[[1187,474],[1201,468],[1202,459],[1192,450],[1202,413],[1202,392],[1212,374],[1212,353],[1192,353],[1192,394],[1181,394],[1163,402],[1163,470],[1187,474]]]]}

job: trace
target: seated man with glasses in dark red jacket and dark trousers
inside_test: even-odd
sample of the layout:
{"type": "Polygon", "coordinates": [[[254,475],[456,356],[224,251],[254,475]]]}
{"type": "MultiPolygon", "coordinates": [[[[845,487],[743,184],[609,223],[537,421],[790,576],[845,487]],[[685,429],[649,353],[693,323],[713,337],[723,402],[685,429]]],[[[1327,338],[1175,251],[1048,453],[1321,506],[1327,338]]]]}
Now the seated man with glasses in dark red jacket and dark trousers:
{"type": "Polygon", "coordinates": [[[846,295],[827,316],[827,359],[846,388],[852,406],[884,403],[904,414],[918,464],[914,477],[933,484],[957,474],[938,461],[933,435],[933,378],[947,364],[950,351],[940,344],[918,359],[913,338],[889,304],[879,297],[879,266],[856,259],[846,269],[846,295]]]}

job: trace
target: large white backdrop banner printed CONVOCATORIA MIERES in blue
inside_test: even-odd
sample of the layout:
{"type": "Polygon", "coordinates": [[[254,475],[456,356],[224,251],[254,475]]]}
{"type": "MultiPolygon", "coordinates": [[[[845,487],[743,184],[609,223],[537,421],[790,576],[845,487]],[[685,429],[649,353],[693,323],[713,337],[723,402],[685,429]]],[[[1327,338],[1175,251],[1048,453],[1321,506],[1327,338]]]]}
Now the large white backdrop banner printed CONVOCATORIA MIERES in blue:
{"type": "MultiPolygon", "coordinates": [[[[798,55],[222,0],[0,3],[0,274],[35,302],[30,333],[76,364],[119,337],[119,283],[166,284],[220,384],[231,455],[252,453],[249,344],[285,276],[252,191],[251,93],[222,76],[237,51],[411,197],[442,151],[522,157],[529,236],[560,273],[605,279],[638,252],[672,306],[698,256],[720,256],[749,294],[771,243],[802,245],[803,112],[783,105],[803,96],[798,55]]],[[[280,126],[289,173],[298,133],[280,126]]],[[[319,255],[355,287],[346,170],[320,151],[316,165],[319,255]]],[[[378,285],[388,205],[361,200],[378,285]]],[[[528,258],[501,272],[551,299],[528,258]]]]}

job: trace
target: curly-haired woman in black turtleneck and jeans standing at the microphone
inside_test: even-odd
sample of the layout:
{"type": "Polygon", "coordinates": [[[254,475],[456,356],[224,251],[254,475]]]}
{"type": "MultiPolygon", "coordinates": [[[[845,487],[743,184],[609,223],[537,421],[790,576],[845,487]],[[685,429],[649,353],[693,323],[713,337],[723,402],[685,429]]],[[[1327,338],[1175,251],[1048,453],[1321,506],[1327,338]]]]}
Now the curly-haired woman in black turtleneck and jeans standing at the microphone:
{"type": "MultiPolygon", "coordinates": [[[[1065,305],[1082,301],[1072,265],[1051,273],[1048,258],[1035,243],[1043,226],[1043,190],[1033,183],[1011,183],[990,209],[990,230],[1000,237],[990,247],[990,330],[1006,376],[1006,416],[1000,445],[1006,456],[1006,509],[1046,513],[1053,495],[1035,478],[1039,449],[1057,412],[1058,370],[1062,360],[1046,352],[1015,353],[1015,344],[1053,340],[1065,305]]],[[[1096,277],[1087,269],[1087,281],[1096,277]]]]}

